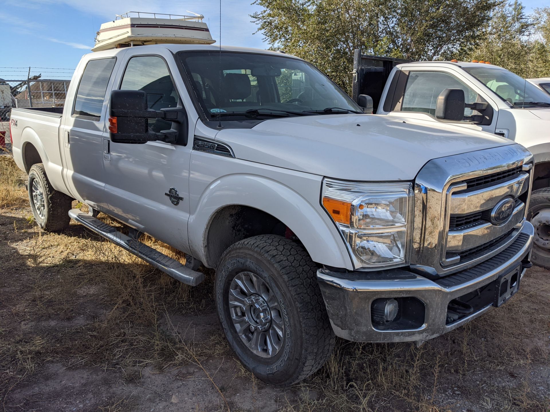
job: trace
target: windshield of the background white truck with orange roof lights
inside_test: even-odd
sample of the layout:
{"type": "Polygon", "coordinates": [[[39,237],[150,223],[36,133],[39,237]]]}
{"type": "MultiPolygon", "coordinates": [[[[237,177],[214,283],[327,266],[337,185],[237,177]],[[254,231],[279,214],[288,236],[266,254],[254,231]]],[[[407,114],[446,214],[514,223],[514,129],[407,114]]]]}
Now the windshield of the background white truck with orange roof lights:
{"type": "Polygon", "coordinates": [[[464,70],[513,107],[533,108],[550,105],[548,94],[511,71],[491,66],[466,67],[464,70]]]}

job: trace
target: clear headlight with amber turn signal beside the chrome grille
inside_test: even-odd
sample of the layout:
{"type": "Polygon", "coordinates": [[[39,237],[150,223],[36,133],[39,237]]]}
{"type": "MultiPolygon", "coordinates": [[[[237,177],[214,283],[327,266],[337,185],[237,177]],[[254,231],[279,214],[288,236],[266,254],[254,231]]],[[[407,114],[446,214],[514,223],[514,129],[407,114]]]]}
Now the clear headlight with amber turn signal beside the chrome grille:
{"type": "Polygon", "coordinates": [[[323,181],[323,207],[363,268],[409,263],[412,203],[409,182],[323,181]]]}

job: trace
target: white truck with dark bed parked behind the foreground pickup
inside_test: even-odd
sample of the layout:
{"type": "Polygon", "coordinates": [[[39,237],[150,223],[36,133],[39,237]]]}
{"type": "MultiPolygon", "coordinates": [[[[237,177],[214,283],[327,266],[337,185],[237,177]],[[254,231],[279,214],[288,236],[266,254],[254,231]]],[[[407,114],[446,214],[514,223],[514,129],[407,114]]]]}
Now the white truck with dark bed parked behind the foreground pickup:
{"type": "Polygon", "coordinates": [[[488,62],[409,62],[354,57],[353,97],[372,98],[376,114],[422,124],[459,125],[503,136],[529,149],[535,159],[529,219],[535,226],[533,263],[550,267],[550,94],[488,62]],[[445,93],[463,91],[455,115],[440,108],[453,101],[445,93]],[[439,102],[439,103],[438,103],[439,102]]]}

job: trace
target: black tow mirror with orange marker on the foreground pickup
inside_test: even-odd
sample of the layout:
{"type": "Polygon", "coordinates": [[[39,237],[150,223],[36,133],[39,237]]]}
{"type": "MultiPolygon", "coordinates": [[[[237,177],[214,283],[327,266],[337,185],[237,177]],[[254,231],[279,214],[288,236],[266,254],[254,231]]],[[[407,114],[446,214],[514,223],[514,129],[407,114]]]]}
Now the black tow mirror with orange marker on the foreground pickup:
{"type": "MultiPolygon", "coordinates": [[[[172,126],[174,127],[174,126],[172,126]]],[[[114,143],[146,143],[156,140],[187,144],[187,115],[182,107],[157,110],[147,108],[142,90],[113,90],[109,110],[109,135],[114,143]],[[155,133],[148,119],[164,119],[178,124],[176,129],[155,133]]]]}

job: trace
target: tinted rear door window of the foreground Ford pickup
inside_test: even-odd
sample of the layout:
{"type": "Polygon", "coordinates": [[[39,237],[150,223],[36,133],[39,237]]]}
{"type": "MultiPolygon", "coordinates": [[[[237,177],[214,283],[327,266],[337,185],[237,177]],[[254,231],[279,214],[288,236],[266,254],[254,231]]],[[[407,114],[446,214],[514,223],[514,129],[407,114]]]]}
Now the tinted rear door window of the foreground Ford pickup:
{"type": "Polygon", "coordinates": [[[108,58],[90,60],[86,64],[76,91],[74,115],[86,116],[94,120],[100,119],[107,83],[111,78],[115,62],[116,59],[108,58]]]}

